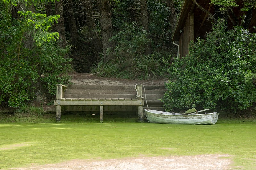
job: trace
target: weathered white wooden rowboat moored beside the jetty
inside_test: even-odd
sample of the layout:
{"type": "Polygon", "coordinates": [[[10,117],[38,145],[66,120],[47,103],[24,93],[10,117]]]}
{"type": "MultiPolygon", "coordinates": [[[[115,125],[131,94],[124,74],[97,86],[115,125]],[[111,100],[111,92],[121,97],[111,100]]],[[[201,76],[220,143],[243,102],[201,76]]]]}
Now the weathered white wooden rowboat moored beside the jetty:
{"type": "Polygon", "coordinates": [[[145,109],[148,122],[165,124],[215,124],[219,113],[182,114],[145,109]]]}

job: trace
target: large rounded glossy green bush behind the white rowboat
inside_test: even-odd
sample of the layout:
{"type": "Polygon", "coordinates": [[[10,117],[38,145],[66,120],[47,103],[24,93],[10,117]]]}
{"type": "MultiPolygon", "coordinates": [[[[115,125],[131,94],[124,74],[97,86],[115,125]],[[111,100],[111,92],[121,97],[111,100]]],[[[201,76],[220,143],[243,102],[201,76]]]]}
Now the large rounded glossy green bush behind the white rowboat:
{"type": "Polygon", "coordinates": [[[225,25],[219,21],[167,69],[162,101],[168,111],[218,106],[236,112],[256,101],[256,34],[238,26],[225,31],[225,25]]]}

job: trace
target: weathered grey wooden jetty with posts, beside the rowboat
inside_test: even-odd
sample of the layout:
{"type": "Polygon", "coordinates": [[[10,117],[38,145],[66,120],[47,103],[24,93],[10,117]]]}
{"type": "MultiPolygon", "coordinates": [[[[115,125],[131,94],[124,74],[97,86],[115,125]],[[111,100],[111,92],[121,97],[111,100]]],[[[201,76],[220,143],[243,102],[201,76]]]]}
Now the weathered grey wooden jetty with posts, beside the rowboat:
{"type": "MultiPolygon", "coordinates": [[[[116,90],[114,97],[118,96],[118,98],[111,98],[111,94],[101,94],[100,89],[96,89],[93,94],[85,94],[88,92],[83,92],[85,90],[78,90],[78,94],[65,95],[65,90],[67,86],[65,85],[57,85],[57,93],[56,100],[54,100],[54,105],[56,105],[56,121],[61,121],[61,111],[63,106],[100,106],[100,123],[103,122],[103,110],[104,106],[137,106],[138,109],[138,117],[139,122],[143,122],[143,106],[144,99],[142,97],[142,85],[137,84],[135,86],[135,90],[116,90]],[[70,98],[67,98],[70,97],[70,98]],[[85,98],[85,97],[90,98],[85,98]],[[93,98],[93,97],[97,98],[93,98]],[[74,98],[71,98],[74,97],[74,98]],[[82,98],[80,98],[82,97],[82,98]]],[[[113,90],[112,90],[113,91],[113,90]]]]}

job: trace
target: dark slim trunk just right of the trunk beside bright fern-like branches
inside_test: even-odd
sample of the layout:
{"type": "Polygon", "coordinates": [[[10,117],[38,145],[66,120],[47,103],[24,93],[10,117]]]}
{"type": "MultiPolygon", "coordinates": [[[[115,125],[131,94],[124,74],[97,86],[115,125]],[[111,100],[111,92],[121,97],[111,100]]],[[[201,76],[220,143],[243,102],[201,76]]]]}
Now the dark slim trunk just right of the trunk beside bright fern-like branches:
{"type": "Polygon", "coordinates": [[[71,43],[72,45],[76,45],[78,41],[78,33],[76,28],[76,20],[72,8],[72,0],[68,0],[67,2],[67,15],[68,15],[68,24],[69,24],[69,31],[71,36],[71,43]]]}

